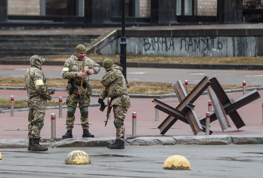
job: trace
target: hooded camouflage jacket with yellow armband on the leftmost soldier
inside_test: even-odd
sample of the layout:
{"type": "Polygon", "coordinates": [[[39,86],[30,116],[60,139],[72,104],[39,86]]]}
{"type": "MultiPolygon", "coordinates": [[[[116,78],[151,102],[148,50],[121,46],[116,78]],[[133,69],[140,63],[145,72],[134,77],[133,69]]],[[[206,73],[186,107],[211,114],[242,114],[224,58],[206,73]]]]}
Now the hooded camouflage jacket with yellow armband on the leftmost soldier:
{"type": "Polygon", "coordinates": [[[27,105],[30,108],[43,109],[46,107],[46,100],[51,100],[51,95],[46,91],[46,78],[41,70],[42,62],[45,59],[38,55],[30,58],[30,76],[29,70],[25,72],[25,83],[27,88],[27,105]]]}

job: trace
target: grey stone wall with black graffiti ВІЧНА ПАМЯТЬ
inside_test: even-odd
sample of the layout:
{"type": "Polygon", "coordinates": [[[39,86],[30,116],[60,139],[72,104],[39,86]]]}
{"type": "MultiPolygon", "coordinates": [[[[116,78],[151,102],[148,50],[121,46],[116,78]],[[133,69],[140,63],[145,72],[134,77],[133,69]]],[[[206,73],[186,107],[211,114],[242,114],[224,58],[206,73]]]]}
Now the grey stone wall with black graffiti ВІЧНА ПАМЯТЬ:
{"type": "MultiPolygon", "coordinates": [[[[194,30],[189,30],[189,34],[193,34],[194,30]]],[[[235,30],[223,30],[225,34],[235,30]]],[[[238,30],[237,30],[238,31],[238,30]]],[[[242,31],[242,30],[241,30],[242,31]]],[[[257,31],[261,33],[260,30],[257,31]]],[[[143,55],[158,55],[158,56],[263,56],[263,36],[253,35],[258,34],[256,31],[251,31],[250,35],[241,35],[239,30],[238,35],[241,36],[204,36],[193,35],[189,36],[186,32],[174,31],[174,35],[169,35],[170,31],[144,31],[135,34],[127,32],[127,54],[143,54],[143,55]],[[186,33],[186,34],[184,34],[186,33]],[[145,34],[145,37],[142,35],[145,34]],[[149,37],[147,34],[152,34],[149,37]],[[153,35],[154,34],[154,35],[153,35]],[[159,35],[158,35],[159,34],[159,35]],[[164,35],[165,34],[165,35],[164,35]],[[148,37],[147,37],[148,36],[148,37]],[[170,37],[168,37],[170,36],[170,37]]],[[[197,32],[196,32],[197,33],[197,32]]],[[[220,33],[220,32],[219,32],[220,33]]],[[[205,34],[213,34],[209,31],[205,34]]],[[[108,41],[108,44],[98,45],[95,51],[98,54],[120,54],[120,37],[108,41]]]]}

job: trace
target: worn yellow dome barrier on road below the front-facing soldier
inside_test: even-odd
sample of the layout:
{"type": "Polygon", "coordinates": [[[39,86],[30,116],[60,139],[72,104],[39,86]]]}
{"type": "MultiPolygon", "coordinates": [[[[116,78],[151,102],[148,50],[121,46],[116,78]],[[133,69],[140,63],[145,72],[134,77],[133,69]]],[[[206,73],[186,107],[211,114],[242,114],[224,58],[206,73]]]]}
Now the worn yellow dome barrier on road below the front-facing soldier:
{"type": "Polygon", "coordinates": [[[89,155],[81,150],[74,150],[68,154],[65,164],[91,164],[89,155]]]}

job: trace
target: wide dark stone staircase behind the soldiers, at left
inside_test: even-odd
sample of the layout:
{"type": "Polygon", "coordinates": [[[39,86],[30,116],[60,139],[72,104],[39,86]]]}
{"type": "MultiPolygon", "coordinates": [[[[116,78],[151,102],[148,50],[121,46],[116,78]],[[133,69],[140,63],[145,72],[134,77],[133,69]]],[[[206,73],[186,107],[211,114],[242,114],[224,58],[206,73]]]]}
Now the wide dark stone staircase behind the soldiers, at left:
{"type": "Polygon", "coordinates": [[[74,54],[100,35],[0,35],[0,58],[74,54]]]}

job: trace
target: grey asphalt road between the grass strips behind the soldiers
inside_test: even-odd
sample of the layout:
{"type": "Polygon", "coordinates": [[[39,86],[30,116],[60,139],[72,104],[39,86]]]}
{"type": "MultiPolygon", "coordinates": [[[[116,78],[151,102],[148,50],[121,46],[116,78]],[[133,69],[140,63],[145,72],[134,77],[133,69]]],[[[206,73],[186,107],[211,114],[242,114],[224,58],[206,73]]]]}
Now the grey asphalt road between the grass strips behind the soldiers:
{"type": "MultiPolygon", "coordinates": [[[[44,63],[43,63],[44,64],[44,63]]],[[[0,76],[24,78],[25,71],[30,65],[0,65],[0,76]]],[[[63,66],[42,66],[46,78],[62,78],[63,66]]],[[[92,80],[100,80],[105,74],[104,69],[97,75],[90,76],[92,80]]],[[[209,70],[209,69],[155,69],[155,68],[127,68],[127,81],[165,82],[175,83],[177,79],[184,83],[198,84],[205,76],[217,77],[221,85],[263,85],[263,71],[252,70],[209,70]]]]}

